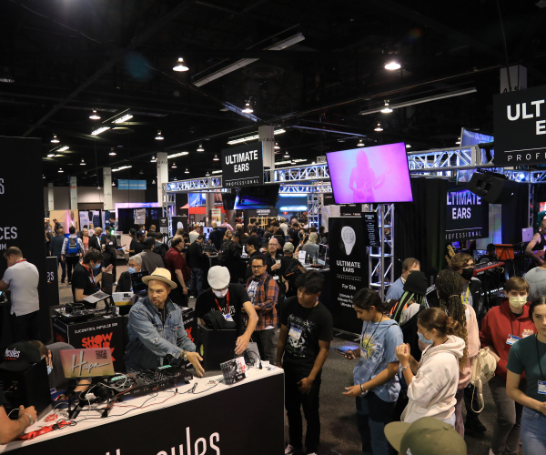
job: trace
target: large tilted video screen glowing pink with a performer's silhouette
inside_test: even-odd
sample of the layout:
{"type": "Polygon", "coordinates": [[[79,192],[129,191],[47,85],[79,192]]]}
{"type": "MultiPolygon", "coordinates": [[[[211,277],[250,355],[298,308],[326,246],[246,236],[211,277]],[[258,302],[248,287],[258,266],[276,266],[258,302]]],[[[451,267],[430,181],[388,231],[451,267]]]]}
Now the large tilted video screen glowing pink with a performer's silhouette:
{"type": "Polygon", "coordinates": [[[336,204],[413,202],[406,145],[326,154],[336,204]]]}

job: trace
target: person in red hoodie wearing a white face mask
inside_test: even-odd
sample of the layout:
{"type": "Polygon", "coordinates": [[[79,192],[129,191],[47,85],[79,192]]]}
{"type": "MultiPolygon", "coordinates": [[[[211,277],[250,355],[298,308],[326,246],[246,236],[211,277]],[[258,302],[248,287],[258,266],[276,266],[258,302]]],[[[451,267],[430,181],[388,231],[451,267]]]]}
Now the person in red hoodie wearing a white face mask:
{"type": "MultiPolygon", "coordinates": [[[[507,363],[512,345],[536,333],[529,317],[529,284],[520,277],[510,278],[504,285],[504,295],[498,307],[490,308],[481,321],[481,347],[488,347],[497,359],[495,376],[488,385],[497,410],[490,455],[515,454],[520,449],[521,413],[523,407],[506,392],[507,363]]],[[[525,381],[520,389],[525,391],[525,381]]]]}

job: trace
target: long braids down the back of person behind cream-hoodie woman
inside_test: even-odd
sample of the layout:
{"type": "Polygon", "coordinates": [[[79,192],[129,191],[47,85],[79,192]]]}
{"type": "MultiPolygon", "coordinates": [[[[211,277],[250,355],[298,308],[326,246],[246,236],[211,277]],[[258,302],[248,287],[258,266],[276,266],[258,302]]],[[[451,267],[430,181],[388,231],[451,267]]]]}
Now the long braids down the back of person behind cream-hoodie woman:
{"type": "Polygon", "coordinates": [[[443,309],[451,319],[459,323],[459,328],[458,330],[455,330],[454,335],[464,341],[464,352],[459,359],[460,368],[463,368],[466,365],[469,356],[469,341],[464,305],[460,301],[460,295],[462,294],[462,278],[460,278],[458,273],[449,268],[445,268],[440,271],[438,277],[436,277],[436,289],[438,290],[438,296],[440,298],[440,308],[443,309]]]}

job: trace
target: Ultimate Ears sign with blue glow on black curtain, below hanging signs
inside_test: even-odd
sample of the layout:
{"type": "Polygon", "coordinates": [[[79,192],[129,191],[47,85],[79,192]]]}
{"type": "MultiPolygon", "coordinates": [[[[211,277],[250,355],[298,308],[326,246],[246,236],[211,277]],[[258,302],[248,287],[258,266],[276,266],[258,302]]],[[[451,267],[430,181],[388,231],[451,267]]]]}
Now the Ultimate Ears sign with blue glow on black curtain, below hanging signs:
{"type": "Polygon", "coordinates": [[[447,193],[446,241],[489,237],[489,203],[468,189],[451,187],[447,193]]]}

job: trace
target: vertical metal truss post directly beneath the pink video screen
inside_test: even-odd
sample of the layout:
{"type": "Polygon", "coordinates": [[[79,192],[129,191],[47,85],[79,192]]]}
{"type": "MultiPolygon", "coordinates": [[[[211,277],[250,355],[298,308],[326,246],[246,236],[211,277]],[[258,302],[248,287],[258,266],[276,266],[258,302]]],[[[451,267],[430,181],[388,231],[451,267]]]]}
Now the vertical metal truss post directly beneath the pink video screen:
{"type": "Polygon", "coordinates": [[[380,247],[369,247],[369,287],[385,298],[394,282],[394,204],[371,204],[370,211],[378,214],[380,247]]]}

